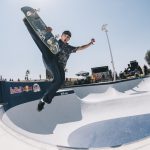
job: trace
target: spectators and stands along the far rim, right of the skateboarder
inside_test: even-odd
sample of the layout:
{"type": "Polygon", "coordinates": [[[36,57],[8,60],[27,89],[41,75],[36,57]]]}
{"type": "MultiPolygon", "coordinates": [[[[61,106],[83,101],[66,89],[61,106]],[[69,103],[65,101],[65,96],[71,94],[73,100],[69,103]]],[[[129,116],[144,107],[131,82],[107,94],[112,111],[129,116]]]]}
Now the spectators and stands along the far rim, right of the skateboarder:
{"type": "MultiPolygon", "coordinates": [[[[131,63],[128,64],[127,67],[124,69],[124,71],[121,71],[119,75],[117,74],[117,72],[115,73],[116,80],[138,78],[138,77],[147,76],[149,74],[150,74],[150,69],[148,68],[148,66],[144,65],[143,67],[141,67],[136,61],[131,61],[131,63]]],[[[113,79],[114,79],[113,73],[111,70],[109,70],[108,72],[101,72],[94,75],[92,74],[92,75],[83,76],[83,78],[81,79],[67,78],[65,84],[67,86],[82,85],[82,84],[90,84],[90,83],[109,82],[109,81],[113,81],[113,79]]]]}

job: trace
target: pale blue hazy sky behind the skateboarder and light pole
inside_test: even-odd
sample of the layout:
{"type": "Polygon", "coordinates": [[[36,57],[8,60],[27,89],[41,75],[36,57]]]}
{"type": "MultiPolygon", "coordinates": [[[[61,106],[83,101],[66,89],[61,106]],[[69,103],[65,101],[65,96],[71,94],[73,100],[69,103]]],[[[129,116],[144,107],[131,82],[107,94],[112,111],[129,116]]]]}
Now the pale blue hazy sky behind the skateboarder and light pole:
{"type": "Polygon", "coordinates": [[[70,44],[80,46],[96,39],[95,45],[72,54],[67,63],[67,77],[92,67],[108,65],[112,69],[106,35],[101,31],[108,24],[108,36],[119,73],[131,60],[142,67],[144,55],[150,49],[149,0],[1,0],[0,75],[24,79],[45,78],[45,68],[39,49],[31,39],[20,8],[40,8],[39,15],[53,28],[54,34],[72,32],[70,44]]]}

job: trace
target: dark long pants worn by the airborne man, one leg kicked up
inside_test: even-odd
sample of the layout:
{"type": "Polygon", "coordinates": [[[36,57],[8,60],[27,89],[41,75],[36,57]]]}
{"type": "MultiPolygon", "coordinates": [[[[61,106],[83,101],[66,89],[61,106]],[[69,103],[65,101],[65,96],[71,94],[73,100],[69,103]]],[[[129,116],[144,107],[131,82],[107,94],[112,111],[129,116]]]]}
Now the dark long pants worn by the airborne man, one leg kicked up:
{"type": "Polygon", "coordinates": [[[52,54],[47,46],[41,41],[41,39],[37,36],[35,31],[32,29],[30,24],[26,19],[23,20],[29,33],[31,34],[33,40],[37,44],[38,48],[40,49],[43,62],[46,69],[52,73],[53,81],[50,83],[49,88],[47,89],[46,93],[44,94],[43,100],[46,103],[51,103],[53,97],[55,96],[57,90],[61,87],[61,85],[65,81],[65,72],[63,66],[61,66],[58,61],[56,55],[52,54]]]}

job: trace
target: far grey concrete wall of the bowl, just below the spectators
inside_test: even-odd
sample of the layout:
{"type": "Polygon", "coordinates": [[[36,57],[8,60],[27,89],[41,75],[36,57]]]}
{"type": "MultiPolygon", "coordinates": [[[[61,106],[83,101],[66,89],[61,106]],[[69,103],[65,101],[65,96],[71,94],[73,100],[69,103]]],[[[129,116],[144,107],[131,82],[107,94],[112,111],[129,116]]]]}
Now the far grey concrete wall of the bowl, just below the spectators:
{"type": "Polygon", "coordinates": [[[80,97],[84,98],[89,94],[93,93],[104,93],[108,90],[108,88],[112,87],[119,92],[130,91],[129,93],[135,93],[137,90],[142,93],[143,91],[149,91],[149,82],[150,77],[143,78],[133,78],[133,79],[125,79],[125,80],[117,80],[115,82],[100,82],[93,84],[84,84],[84,85],[75,85],[71,88],[75,91],[75,93],[80,97]],[[137,89],[138,88],[138,89],[137,89]]]}

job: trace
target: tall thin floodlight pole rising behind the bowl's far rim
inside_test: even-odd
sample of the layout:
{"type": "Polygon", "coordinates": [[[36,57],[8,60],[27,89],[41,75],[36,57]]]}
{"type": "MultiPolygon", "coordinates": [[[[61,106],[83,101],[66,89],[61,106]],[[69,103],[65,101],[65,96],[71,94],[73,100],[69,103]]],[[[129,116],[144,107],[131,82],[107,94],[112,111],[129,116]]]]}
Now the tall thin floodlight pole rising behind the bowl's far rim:
{"type": "Polygon", "coordinates": [[[108,37],[108,30],[107,30],[107,24],[102,25],[102,31],[106,33],[107,41],[108,41],[108,46],[109,46],[109,51],[110,51],[110,57],[111,57],[111,63],[112,63],[112,68],[113,68],[113,81],[116,81],[116,71],[115,71],[115,65],[114,65],[114,60],[113,60],[113,55],[110,47],[110,42],[109,42],[109,37],[108,37]]]}

